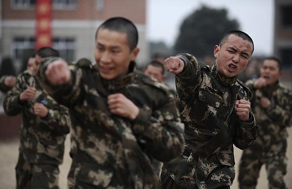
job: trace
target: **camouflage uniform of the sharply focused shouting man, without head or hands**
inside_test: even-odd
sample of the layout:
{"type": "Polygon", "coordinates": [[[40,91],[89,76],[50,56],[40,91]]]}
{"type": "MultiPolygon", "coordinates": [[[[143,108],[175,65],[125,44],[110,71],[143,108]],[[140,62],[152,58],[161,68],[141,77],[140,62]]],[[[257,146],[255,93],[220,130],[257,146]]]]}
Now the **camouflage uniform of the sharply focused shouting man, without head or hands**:
{"type": "MultiPolygon", "coordinates": [[[[185,62],[182,73],[176,75],[176,86],[186,143],[179,158],[164,163],[161,181],[173,182],[171,177],[180,188],[232,185],[235,177],[233,144],[246,149],[256,139],[253,114],[250,113],[250,120],[245,122],[239,120],[235,110],[235,100],[247,100],[248,90],[237,77],[224,77],[215,63],[202,65],[189,54],[178,57],[185,62]],[[226,132],[216,137],[224,131],[222,128],[226,128],[226,132]]],[[[173,183],[170,187],[178,188],[173,183]]]]}

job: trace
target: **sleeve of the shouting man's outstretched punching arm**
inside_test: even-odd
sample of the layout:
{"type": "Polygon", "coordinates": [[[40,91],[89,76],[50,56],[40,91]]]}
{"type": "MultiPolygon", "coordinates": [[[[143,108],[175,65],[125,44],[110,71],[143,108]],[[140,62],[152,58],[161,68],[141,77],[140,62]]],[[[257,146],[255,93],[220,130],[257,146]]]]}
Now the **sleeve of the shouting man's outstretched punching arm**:
{"type": "Polygon", "coordinates": [[[180,74],[177,74],[176,89],[179,99],[185,100],[193,95],[195,89],[201,81],[201,71],[196,58],[190,54],[178,54],[181,60],[184,61],[185,67],[180,74]]]}

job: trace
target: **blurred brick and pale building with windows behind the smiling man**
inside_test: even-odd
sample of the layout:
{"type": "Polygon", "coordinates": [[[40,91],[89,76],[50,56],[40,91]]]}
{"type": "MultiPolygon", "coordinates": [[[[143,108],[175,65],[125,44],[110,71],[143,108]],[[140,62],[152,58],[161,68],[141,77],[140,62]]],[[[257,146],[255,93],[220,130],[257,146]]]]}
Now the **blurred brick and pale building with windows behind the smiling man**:
{"type": "MultiPolygon", "coordinates": [[[[13,58],[17,68],[35,49],[37,0],[2,0],[0,56],[13,58]]],[[[94,61],[95,32],[106,19],[121,16],[133,21],[139,32],[138,64],[149,59],[145,36],[145,0],[51,0],[52,47],[67,61],[94,61]]],[[[2,58],[0,57],[0,58],[2,58]]]]}

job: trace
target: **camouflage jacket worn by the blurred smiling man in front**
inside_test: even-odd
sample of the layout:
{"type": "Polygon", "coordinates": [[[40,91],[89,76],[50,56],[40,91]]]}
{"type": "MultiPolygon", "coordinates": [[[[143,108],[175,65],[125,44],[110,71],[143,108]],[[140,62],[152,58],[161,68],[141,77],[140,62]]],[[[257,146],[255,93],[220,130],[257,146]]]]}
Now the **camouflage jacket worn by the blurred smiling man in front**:
{"type": "Polygon", "coordinates": [[[102,80],[89,60],[71,70],[71,81],[52,86],[40,68],[42,86],[59,103],[69,107],[73,138],[68,187],[157,188],[152,160],[163,162],[183,150],[184,125],[168,88],[135,70],[122,78],[102,80]],[[139,107],[135,120],[111,114],[107,96],[122,93],[139,107]]]}

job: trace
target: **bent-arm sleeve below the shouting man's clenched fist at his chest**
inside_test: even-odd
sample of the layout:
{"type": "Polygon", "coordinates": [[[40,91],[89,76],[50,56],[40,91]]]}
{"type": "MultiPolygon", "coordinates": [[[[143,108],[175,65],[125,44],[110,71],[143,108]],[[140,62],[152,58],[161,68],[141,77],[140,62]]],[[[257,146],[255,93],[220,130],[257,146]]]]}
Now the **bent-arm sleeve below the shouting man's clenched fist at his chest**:
{"type": "Polygon", "coordinates": [[[258,124],[253,113],[250,112],[250,120],[248,121],[238,119],[236,128],[233,138],[234,145],[242,150],[249,148],[255,142],[258,130],[258,124]]]}

